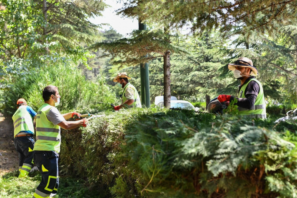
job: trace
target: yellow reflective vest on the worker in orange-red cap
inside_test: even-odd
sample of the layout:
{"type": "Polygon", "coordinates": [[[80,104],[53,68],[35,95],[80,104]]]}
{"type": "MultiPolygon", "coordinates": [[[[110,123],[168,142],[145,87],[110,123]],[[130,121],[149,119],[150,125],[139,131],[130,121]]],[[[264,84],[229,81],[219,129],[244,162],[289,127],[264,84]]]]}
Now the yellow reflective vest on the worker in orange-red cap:
{"type": "Polygon", "coordinates": [[[30,131],[34,134],[34,126],[30,113],[27,111],[27,106],[22,105],[12,116],[14,126],[14,136],[21,131],[30,131]]]}

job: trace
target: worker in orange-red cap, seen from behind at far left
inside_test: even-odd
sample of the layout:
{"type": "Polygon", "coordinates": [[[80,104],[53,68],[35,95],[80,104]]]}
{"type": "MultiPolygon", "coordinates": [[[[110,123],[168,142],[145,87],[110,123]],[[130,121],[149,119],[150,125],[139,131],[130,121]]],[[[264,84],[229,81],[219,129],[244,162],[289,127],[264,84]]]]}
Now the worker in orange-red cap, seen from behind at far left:
{"type": "Polygon", "coordinates": [[[19,178],[27,177],[33,167],[34,125],[37,113],[27,105],[25,99],[17,101],[17,110],[12,116],[14,145],[19,156],[19,178]]]}

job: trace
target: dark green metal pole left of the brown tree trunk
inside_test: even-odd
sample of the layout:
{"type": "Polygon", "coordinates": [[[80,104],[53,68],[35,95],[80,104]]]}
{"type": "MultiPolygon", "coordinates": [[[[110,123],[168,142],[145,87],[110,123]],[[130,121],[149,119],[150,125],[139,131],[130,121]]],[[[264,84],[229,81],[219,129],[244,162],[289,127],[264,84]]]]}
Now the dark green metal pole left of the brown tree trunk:
{"type": "MultiPolygon", "coordinates": [[[[146,30],[146,24],[138,21],[138,29],[146,30]]],[[[147,56],[147,55],[146,55],[147,56]]],[[[141,85],[141,104],[146,107],[151,107],[150,93],[149,93],[149,64],[140,64],[140,85],[141,85]]]]}

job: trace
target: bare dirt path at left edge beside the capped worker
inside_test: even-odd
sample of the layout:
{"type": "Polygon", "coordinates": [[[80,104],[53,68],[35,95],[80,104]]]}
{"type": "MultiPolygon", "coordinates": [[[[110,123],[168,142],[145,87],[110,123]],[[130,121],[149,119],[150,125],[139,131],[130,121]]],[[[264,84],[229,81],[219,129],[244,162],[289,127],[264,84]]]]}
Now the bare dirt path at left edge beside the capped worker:
{"type": "Polygon", "coordinates": [[[0,175],[18,169],[18,153],[13,144],[13,122],[0,114],[0,175]]]}

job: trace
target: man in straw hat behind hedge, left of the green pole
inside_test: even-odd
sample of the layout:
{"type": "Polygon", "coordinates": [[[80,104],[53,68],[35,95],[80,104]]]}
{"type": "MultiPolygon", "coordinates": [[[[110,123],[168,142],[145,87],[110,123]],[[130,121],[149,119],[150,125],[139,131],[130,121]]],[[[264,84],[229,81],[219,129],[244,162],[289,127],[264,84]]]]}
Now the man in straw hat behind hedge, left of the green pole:
{"type": "Polygon", "coordinates": [[[118,82],[118,86],[123,88],[123,93],[120,95],[122,98],[122,104],[113,107],[114,110],[118,111],[123,107],[140,107],[141,102],[139,94],[136,88],[129,83],[131,77],[127,76],[126,72],[118,73],[118,75],[113,79],[113,82],[118,82]]]}

